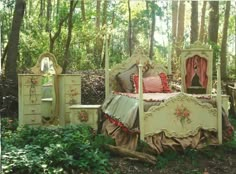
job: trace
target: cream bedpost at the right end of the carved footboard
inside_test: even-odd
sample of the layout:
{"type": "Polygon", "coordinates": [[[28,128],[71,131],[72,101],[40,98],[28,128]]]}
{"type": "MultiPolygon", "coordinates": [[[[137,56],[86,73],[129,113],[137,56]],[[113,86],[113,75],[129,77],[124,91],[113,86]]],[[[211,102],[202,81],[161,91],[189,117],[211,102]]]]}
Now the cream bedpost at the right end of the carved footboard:
{"type": "Polygon", "coordinates": [[[222,107],[221,107],[221,73],[220,63],[217,64],[217,113],[218,113],[218,141],[222,144],[222,107]]]}

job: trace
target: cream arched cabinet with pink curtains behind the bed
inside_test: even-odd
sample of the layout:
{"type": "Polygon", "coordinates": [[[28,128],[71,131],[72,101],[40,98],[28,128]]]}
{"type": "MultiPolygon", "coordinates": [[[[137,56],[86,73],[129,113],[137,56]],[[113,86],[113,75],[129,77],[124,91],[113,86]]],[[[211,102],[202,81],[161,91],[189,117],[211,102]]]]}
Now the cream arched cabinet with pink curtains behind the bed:
{"type": "Polygon", "coordinates": [[[196,41],[189,47],[183,49],[180,55],[182,92],[211,94],[212,62],[213,51],[208,45],[196,41]],[[197,78],[197,82],[195,80],[195,83],[193,82],[193,79],[196,79],[194,75],[197,78]]]}

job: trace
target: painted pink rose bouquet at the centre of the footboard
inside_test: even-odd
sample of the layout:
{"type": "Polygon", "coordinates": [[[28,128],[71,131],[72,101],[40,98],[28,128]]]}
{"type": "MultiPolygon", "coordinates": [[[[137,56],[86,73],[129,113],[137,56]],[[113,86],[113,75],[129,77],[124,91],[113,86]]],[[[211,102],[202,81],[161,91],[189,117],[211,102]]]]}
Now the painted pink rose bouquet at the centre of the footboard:
{"type": "Polygon", "coordinates": [[[180,120],[182,125],[184,125],[184,123],[191,123],[190,112],[183,105],[177,106],[177,108],[175,109],[175,115],[180,120]]]}

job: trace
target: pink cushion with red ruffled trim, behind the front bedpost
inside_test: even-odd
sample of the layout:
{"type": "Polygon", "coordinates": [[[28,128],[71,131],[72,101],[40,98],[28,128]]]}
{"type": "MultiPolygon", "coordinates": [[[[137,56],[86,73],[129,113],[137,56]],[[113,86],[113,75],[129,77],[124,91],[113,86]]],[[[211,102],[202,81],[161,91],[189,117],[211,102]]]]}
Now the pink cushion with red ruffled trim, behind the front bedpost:
{"type": "MultiPolygon", "coordinates": [[[[138,93],[139,84],[138,84],[139,76],[133,75],[133,85],[134,92],[138,93]]],[[[167,76],[165,73],[160,73],[156,76],[144,77],[143,78],[143,92],[144,93],[168,93],[171,92],[168,83],[167,76]]]]}

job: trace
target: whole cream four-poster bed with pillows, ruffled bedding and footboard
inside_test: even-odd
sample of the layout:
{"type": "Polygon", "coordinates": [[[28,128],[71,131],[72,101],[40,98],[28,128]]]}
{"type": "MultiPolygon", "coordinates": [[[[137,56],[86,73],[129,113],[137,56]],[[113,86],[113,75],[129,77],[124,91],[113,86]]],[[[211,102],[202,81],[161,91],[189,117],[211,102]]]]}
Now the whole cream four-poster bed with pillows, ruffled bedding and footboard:
{"type": "Polygon", "coordinates": [[[166,68],[151,62],[141,49],[111,70],[106,60],[106,67],[101,132],[114,138],[117,146],[135,150],[141,139],[161,153],[166,148],[222,143],[219,66],[217,96],[171,91],[166,68]],[[155,80],[161,81],[161,90],[145,86],[155,80]]]}

